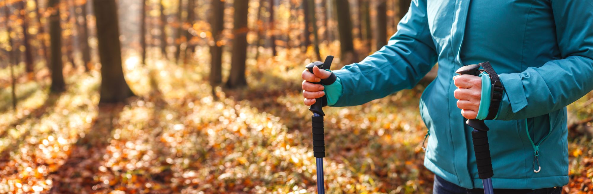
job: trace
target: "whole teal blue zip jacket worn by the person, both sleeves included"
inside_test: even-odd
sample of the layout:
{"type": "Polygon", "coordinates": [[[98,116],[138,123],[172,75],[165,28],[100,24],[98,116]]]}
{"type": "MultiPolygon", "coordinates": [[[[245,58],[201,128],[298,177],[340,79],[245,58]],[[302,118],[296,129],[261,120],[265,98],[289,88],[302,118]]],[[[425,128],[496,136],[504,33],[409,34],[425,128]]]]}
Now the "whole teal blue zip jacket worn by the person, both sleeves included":
{"type": "Polygon", "coordinates": [[[486,121],[493,186],[566,185],[566,105],[593,89],[593,1],[415,0],[388,45],[335,70],[340,89],[326,93],[333,106],[361,105],[413,88],[438,62],[420,101],[431,134],[424,164],[455,185],[482,188],[452,76],[486,61],[505,87],[498,117],[486,121]]]}

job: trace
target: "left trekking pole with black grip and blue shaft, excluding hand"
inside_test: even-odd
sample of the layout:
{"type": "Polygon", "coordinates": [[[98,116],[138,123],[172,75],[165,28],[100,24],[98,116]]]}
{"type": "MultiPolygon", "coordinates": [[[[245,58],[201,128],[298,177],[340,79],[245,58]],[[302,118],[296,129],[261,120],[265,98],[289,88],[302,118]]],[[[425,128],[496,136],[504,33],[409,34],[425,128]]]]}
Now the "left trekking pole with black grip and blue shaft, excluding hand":
{"type": "MultiPolygon", "coordinates": [[[[313,66],[317,66],[319,69],[330,69],[333,56],[327,56],[324,63],[313,62],[307,64],[309,72],[313,73],[313,66]]],[[[324,85],[330,85],[336,81],[335,75],[328,77],[327,79],[321,80],[321,82],[315,82],[316,84],[323,83],[324,85]],[[332,79],[330,79],[332,78],[332,79]],[[331,82],[331,83],[329,83],[331,82]]],[[[311,127],[313,127],[313,156],[315,156],[315,164],[317,165],[317,193],[326,193],[326,188],[323,182],[323,157],[326,157],[326,147],[323,135],[323,106],[327,104],[327,98],[315,99],[315,104],[311,105],[309,111],[313,112],[311,117],[311,127]]]]}

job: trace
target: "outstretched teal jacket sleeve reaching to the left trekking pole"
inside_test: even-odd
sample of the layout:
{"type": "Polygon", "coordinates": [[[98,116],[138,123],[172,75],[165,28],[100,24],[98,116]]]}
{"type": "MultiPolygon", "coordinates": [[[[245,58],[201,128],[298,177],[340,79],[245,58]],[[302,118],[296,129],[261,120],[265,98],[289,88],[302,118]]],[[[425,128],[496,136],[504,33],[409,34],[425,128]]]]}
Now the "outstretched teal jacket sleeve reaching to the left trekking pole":
{"type": "Polygon", "coordinates": [[[426,17],[426,0],[415,0],[397,25],[387,46],[333,71],[342,95],[333,106],[361,105],[402,89],[410,89],[436,63],[437,54],[426,17]]]}

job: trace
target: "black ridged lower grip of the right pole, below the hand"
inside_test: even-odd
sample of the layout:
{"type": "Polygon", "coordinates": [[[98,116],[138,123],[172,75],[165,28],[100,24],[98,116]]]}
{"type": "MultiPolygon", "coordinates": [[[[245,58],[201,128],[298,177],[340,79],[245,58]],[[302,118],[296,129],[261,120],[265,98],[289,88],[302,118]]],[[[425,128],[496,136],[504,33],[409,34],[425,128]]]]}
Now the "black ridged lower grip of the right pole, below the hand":
{"type": "Polygon", "coordinates": [[[474,143],[476,153],[476,164],[480,179],[487,179],[494,176],[492,171],[492,159],[490,158],[490,145],[486,131],[472,131],[471,140],[474,143]]]}

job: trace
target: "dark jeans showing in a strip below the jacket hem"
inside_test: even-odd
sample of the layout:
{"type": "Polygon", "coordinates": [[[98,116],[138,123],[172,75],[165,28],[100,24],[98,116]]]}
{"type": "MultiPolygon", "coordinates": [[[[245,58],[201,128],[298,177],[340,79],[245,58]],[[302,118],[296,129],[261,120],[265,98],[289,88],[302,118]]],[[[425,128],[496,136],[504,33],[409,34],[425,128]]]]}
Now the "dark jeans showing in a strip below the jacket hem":
{"type": "MultiPolygon", "coordinates": [[[[505,194],[560,194],[562,187],[556,188],[545,188],[545,189],[494,189],[494,193],[505,193],[505,194]]],[[[457,186],[453,183],[442,179],[435,175],[435,184],[432,187],[432,193],[434,194],[484,194],[484,189],[466,189],[464,187],[457,186]]]]}

